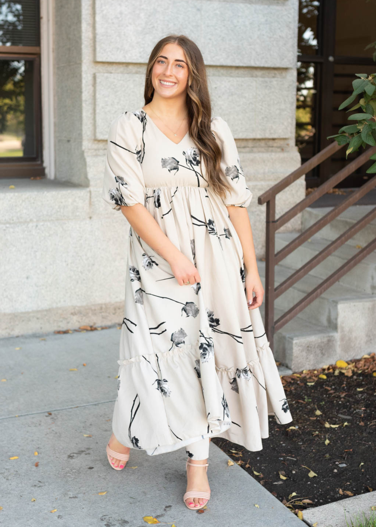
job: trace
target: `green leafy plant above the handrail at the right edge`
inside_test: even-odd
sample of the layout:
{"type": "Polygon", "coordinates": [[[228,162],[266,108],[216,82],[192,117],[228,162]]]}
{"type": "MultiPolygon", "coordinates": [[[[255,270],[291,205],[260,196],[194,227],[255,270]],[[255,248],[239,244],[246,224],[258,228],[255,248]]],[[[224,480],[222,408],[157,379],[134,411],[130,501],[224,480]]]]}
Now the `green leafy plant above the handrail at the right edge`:
{"type": "MultiPolygon", "coordinates": [[[[354,79],[352,82],[353,92],[338,109],[342,110],[351,104],[358,95],[361,95],[359,102],[347,112],[360,108],[362,113],[349,115],[349,121],[357,122],[342,126],[338,134],[329,135],[326,138],[334,138],[338,144],[349,144],[346,150],[346,159],[350,153],[357,152],[360,147],[365,148],[367,144],[372,147],[376,145],[376,73],[372,73],[369,76],[366,73],[356,73],[355,75],[359,78],[354,79]]],[[[376,160],[376,154],[372,155],[370,159],[376,160]]],[[[367,172],[376,173],[376,162],[373,163],[367,172]]]]}

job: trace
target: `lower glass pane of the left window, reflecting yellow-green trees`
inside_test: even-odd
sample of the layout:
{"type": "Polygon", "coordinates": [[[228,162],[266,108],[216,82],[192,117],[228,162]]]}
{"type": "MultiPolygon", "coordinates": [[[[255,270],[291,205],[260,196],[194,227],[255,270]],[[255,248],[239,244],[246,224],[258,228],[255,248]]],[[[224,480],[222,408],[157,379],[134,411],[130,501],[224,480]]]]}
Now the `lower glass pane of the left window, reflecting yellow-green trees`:
{"type": "Polygon", "coordinates": [[[0,158],[35,157],[32,60],[0,59],[0,158]]]}

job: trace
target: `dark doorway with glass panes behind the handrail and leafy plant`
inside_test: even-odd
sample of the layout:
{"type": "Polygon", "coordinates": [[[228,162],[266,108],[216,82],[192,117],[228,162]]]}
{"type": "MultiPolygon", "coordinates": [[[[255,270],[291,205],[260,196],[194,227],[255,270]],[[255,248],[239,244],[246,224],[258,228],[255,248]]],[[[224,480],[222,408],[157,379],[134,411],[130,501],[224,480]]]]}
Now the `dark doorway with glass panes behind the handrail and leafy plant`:
{"type": "MultiPolygon", "coordinates": [[[[351,123],[348,108],[338,107],[352,93],[355,73],[376,73],[375,50],[364,49],[374,41],[376,0],[299,1],[296,145],[302,163],[330,144],[327,136],[351,123]]],[[[318,187],[362,152],[346,160],[343,147],[306,174],[306,187],[318,187]]],[[[371,164],[365,163],[338,187],[360,187],[372,177],[365,173],[371,164]]]]}

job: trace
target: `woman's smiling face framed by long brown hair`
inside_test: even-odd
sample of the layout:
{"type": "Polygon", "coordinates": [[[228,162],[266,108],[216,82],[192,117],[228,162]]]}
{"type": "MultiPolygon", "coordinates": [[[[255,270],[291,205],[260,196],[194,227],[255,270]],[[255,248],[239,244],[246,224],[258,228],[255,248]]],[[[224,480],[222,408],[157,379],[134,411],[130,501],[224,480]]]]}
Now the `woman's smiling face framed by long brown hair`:
{"type": "Polygon", "coordinates": [[[183,48],[173,43],[166,44],[153,66],[152,83],[155,92],[164,99],[182,94],[185,96],[188,73],[183,48]]]}

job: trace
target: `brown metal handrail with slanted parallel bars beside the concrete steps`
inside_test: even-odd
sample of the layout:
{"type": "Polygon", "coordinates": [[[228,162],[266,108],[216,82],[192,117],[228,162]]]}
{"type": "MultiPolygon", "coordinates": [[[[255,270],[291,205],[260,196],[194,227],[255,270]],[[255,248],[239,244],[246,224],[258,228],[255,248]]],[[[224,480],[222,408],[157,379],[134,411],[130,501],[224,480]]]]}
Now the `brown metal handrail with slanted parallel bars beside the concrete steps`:
{"type": "Polygon", "coordinates": [[[337,185],[340,181],[347,178],[349,174],[361,167],[367,162],[371,155],[376,153],[376,147],[367,148],[361,155],[356,159],[349,162],[349,164],[342,170],[332,175],[327,181],[325,181],[318,189],[310,193],[294,207],[286,211],[278,219],[275,219],[275,197],[276,194],[284,190],[286,187],[291,185],[294,181],[299,179],[303,174],[308,173],[322,161],[328,159],[332,154],[337,152],[343,147],[339,145],[337,141],[333,141],[328,147],[324,148],[318,154],[314,155],[313,158],[303,163],[298,169],[291,172],[281,181],[276,183],[273,187],[266,190],[261,196],[259,196],[258,203],[260,205],[266,203],[266,251],[265,251],[265,330],[266,335],[270,341],[270,346],[273,349],[274,333],[281,329],[287,324],[293,317],[298,315],[300,311],[306,308],[313,300],[318,298],[326,289],[331,287],[337,282],[342,276],[347,274],[355,265],[357,265],[363,258],[368,256],[373,250],[376,249],[376,238],[370,241],[365,247],[363,247],[356,255],[352,256],[349,260],[345,261],[344,264],[335,270],[330,276],[325,278],[321,284],[316,286],[312,291],[304,296],[299,302],[296,302],[288,311],[286,311],[277,320],[274,320],[274,301],[286,290],[293,286],[297,281],[308,274],[314,267],[321,264],[321,262],[330,256],[334,251],[343,245],[347,240],[352,238],[357,232],[363,227],[368,225],[370,221],[376,218],[376,207],[372,209],[359,221],[354,223],[349,229],[344,231],[338,238],[333,240],[329,245],[322,249],[317,255],[306,262],[302,267],[293,272],[289,278],[286,278],[279,286],[274,287],[274,271],[275,266],[279,264],[281,260],[290,255],[296,248],[300,247],[302,243],[308,240],[312,235],[321,230],[323,227],[328,225],[330,221],[337,218],[341,212],[350,207],[353,203],[357,202],[370,190],[376,187],[376,175],[364,183],[359,190],[352,192],[347,198],[345,198],[337,207],[333,207],[332,210],[327,212],[322,218],[313,223],[304,232],[301,232],[299,236],[294,238],[288,245],[283,247],[280,251],[275,253],[275,232],[280,229],[285,223],[290,221],[292,218],[302,212],[306,207],[309,207],[316,199],[320,198],[337,185]]]}

